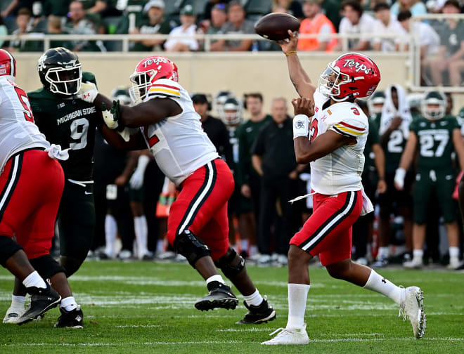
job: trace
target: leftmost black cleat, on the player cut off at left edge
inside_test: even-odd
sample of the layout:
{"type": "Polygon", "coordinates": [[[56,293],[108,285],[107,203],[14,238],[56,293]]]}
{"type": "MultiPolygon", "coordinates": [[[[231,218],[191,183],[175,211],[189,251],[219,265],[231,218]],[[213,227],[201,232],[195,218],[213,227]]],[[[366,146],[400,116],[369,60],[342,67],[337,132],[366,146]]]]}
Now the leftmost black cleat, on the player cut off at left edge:
{"type": "Polygon", "coordinates": [[[26,289],[31,296],[31,303],[26,312],[19,318],[18,325],[36,319],[60,303],[61,296],[50,286],[50,280],[47,279],[45,283],[45,289],[38,287],[28,287],[26,289]]]}

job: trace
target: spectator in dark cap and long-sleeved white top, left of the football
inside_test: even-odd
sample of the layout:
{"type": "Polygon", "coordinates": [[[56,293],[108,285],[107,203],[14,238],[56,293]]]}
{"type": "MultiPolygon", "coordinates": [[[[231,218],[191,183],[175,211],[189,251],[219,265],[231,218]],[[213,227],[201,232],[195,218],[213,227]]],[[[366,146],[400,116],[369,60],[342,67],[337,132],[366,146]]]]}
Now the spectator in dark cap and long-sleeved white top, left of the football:
{"type": "Polygon", "coordinates": [[[175,27],[169,33],[169,39],[165,43],[166,51],[198,51],[198,41],[195,38],[176,38],[181,36],[194,36],[197,26],[195,14],[190,4],[181,9],[181,25],[175,27]]]}

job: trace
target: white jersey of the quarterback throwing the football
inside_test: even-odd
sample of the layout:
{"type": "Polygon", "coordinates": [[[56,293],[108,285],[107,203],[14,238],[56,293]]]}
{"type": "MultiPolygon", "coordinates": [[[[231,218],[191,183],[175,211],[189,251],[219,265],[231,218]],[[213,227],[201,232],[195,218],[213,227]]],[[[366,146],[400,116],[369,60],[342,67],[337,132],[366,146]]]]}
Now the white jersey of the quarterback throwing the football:
{"type": "Polygon", "coordinates": [[[328,100],[318,90],[314,93],[315,113],[311,120],[311,140],[331,130],[356,138],[356,144],[343,145],[311,162],[311,188],[323,195],[361,190],[368,118],[356,103],[340,102],[323,109],[328,100]]]}

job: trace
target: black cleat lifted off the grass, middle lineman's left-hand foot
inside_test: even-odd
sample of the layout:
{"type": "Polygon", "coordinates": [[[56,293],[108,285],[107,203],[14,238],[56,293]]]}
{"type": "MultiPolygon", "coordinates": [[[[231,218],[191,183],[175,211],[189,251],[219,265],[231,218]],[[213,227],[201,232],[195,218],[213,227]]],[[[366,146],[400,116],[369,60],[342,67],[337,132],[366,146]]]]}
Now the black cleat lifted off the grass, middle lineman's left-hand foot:
{"type": "Polygon", "coordinates": [[[220,282],[210,282],[207,285],[210,294],[203,296],[195,302],[197,310],[207,311],[214,308],[226,308],[227,310],[235,309],[238,305],[238,299],[233,294],[231,287],[220,282]]]}

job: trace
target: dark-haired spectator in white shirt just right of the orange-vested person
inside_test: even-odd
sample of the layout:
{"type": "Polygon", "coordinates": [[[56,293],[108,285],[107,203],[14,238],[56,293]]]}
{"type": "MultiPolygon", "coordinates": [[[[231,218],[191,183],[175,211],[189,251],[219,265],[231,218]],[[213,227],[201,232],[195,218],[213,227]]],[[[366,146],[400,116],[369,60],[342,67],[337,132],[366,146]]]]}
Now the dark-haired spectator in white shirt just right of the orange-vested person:
{"type": "MultiPolygon", "coordinates": [[[[363,7],[358,0],[344,0],[340,6],[344,18],[340,22],[340,34],[359,34],[359,39],[348,39],[350,51],[367,51],[370,48],[370,39],[366,34],[373,31],[375,19],[363,13],[363,7]]],[[[341,44],[337,47],[341,49],[341,44]]]]}

